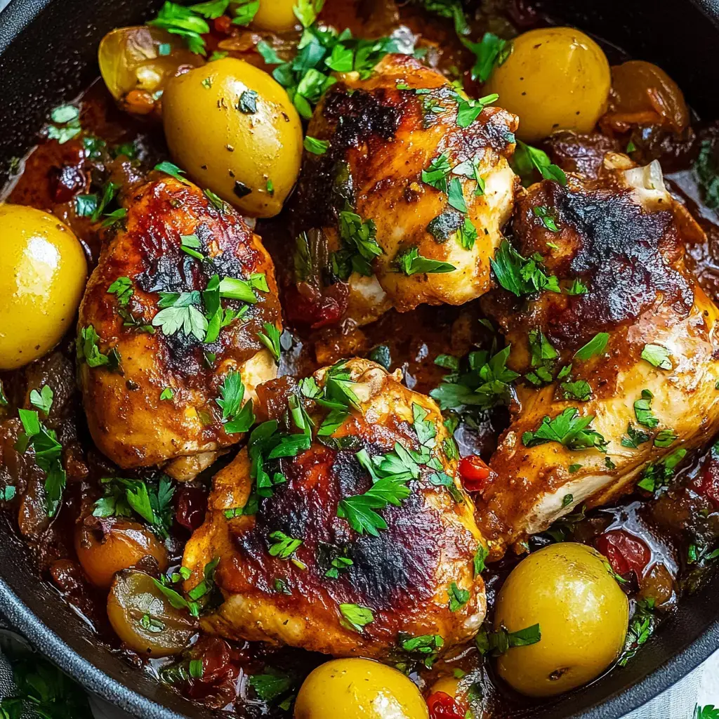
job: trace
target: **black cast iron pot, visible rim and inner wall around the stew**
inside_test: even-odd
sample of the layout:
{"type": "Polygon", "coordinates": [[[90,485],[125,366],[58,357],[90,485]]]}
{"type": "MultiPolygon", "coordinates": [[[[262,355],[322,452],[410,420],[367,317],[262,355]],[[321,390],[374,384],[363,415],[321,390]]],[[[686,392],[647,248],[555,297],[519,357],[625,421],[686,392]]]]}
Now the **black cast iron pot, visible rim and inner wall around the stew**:
{"type": "MultiPolygon", "coordinates": [[[[0,168],[27,152],[50,109],[75,97],[98,74],[101,37],[114,27],[142,22],[158,4],[10,2],[0,13],[0,168]]],[[[661,65],[700,116],[719,116],[719,0],[544,0],[543,5],[553,17],[661,65]]],[[[5,179],[0,169],[0,186],[5,179]]],[[[701,592],[684,597],[628,667],[537,708],[532,717],[615,719],[649,701],[719,649],[717,597],[719,574],[701,592]]],[[[212,715],[104,649],[58,593],[38,579],[6,521],[0,521],[0,612],[84,687],[139,718],[212,715]]]]}

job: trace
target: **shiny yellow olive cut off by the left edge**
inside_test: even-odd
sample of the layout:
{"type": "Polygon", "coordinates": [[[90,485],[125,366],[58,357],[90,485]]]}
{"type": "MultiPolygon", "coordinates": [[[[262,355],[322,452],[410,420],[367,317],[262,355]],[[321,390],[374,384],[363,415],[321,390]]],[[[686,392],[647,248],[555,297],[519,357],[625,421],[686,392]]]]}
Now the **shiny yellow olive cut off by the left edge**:
{"type": "Polygon", "coordinates": [[[0,204],[0,238],[0,370],[14,370],[73,328],[88,270],[70,228],[32,207],[0,204]]]}

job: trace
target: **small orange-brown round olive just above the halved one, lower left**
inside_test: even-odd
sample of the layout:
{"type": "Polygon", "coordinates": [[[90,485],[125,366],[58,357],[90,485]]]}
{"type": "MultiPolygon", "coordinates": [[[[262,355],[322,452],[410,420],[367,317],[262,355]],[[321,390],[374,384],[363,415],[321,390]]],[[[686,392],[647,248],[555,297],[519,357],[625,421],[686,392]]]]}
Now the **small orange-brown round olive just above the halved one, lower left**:
{"type": "Polygon", "coordinates": [[[160,572],[168,568],[165,546],[142,524],[125,519],[79,523],[75,551],[88,579],[101,589],[109,589],[116,572],[134,567],[142,557],[153,557],[160,572]]]}

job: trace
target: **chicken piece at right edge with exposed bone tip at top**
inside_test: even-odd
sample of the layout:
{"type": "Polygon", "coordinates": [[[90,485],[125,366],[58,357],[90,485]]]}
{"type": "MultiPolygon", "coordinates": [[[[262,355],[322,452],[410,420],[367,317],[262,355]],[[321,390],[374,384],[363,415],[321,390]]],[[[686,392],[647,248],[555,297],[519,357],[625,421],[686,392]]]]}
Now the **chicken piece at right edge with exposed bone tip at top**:
{"type": "Polygon", "coordinates": [[[512,345],[508,366],[540,385],[554,377],[518,386],[521,409],[491,459],[477,521],[493,557],[643,476],[642,487],[659,486],[719,430],[718,310],[684,264],[684,242],[703,241],[702,231],[664,188],[658,162],[568,178],[529,188],[514,221],[517,249],[543,255],[562,293],[527,301],[498,290],[483,301],[512,345]],[[593,418],[585,429],[599,434],[577,434],[578,418],[593,418]]]}

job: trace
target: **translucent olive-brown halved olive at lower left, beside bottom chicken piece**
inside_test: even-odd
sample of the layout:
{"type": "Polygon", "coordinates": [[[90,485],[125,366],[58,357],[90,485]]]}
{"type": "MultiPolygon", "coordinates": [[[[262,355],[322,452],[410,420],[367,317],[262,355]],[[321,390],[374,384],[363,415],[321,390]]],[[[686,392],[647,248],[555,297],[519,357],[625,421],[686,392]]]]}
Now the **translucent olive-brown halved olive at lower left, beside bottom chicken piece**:
{"type": "Polygon", "coordinates": [[[175,608],[156,580],[134,569],[116,574],[107,616],[117,636],[147,656],[180,654],[198,631],[187,609],[175,608]]]}

